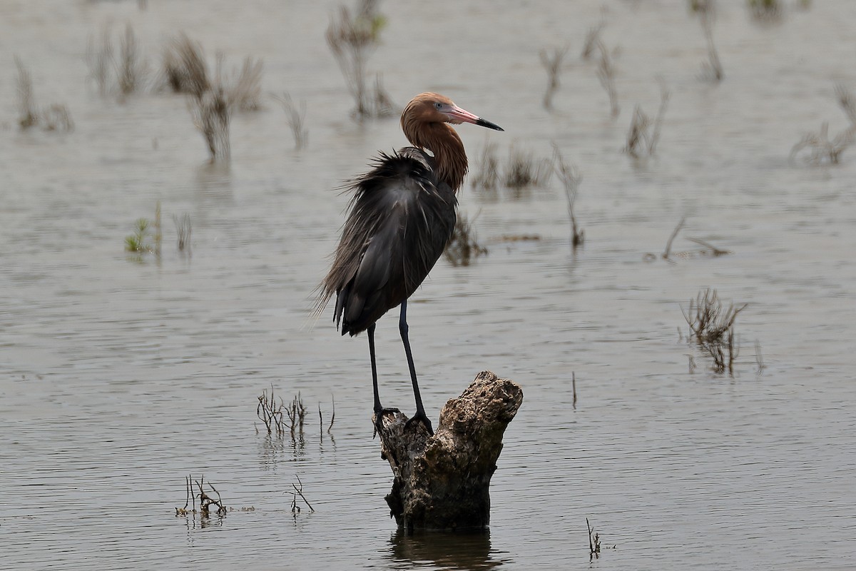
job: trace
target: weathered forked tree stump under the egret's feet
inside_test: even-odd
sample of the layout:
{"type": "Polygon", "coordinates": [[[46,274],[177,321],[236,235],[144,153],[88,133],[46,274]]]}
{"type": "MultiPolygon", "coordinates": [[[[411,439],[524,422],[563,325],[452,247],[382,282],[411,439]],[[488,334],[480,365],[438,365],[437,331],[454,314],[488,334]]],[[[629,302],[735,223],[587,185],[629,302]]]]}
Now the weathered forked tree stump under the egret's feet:
{"type": "Polygon", "coordinates": [[[440,412],[434,436],[402,413],[386,413],[378,431],[381,457],[395,479],[386,497],[400,527],[483,528],[490,522],[490,477],[502,451],[502,434],[523,402],[507,378],[480,372],[440,412]]]}

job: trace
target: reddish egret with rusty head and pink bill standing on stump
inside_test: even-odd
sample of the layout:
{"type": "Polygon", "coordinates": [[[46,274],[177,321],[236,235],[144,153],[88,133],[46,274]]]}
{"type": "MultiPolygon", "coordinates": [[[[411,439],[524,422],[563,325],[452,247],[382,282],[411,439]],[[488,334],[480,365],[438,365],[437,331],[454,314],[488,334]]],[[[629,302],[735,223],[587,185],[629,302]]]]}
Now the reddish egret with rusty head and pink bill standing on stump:
{"type": "Polygon", "coordinates": [[[398,409],[381,407],[377,395],[375,323],[401,306],[398,328],[416,399],[416,413],[408,422],[418,419],[433,434],[407,338],[407,298],[428,276],[455,229],[455,193],[467,174],[467,154],[447,123],[464,122],[502,131],[437,93],[422,93],[407,104],[401,129],[413,146],[381,153],[374,168],[353,182],[342,240],[320,286],[318,311],[336,294],[333,319],[342,335],[368,331],[378,426],[383,413],[398,409]]]}

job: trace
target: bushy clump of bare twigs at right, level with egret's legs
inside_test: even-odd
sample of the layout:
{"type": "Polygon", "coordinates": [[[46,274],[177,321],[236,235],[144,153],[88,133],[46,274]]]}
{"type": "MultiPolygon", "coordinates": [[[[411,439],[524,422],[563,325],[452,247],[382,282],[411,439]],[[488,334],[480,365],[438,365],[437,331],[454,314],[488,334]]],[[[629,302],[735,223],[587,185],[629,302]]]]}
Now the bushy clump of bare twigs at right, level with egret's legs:
{"type": "Polygon", "coordinates": [[[734,334],[734,321],[748,304],[740,307],[729,304],[724,309],[716,289],[703,289],[690,300],[687,311],[681,306],[681,313],[690,327],[690,339],[694,339],[699,348],[704,349],[713,359],[713,370],[728,372],[734,376],[734,360],[740,353],[734,334]]]}

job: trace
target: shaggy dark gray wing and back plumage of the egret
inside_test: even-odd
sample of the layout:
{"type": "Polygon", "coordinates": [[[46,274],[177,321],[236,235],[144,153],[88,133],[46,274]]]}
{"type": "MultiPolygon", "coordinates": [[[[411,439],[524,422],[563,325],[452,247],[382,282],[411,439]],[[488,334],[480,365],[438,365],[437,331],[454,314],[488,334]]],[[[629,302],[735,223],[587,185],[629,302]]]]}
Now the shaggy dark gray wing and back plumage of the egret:
{"type": "Polygon", "coordinates": [[[336,294],[336,324],[356,335],[425,280],[455,228],[455,193],[413,147],[382,154],[354,198],[319,306],[336,294]]]}

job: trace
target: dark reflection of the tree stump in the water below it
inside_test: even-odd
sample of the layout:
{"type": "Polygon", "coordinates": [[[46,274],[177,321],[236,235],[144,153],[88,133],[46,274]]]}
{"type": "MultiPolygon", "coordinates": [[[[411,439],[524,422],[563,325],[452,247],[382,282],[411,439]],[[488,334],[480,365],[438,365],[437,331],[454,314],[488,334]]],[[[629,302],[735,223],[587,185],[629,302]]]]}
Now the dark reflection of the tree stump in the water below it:
{"type": "Polygon", "coordinates": [[[413,532],[398,530],[389,538],[394,562],[443,569],[491,569],[506,561],[490,556],[490,530],[413,532]]]}

